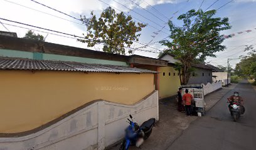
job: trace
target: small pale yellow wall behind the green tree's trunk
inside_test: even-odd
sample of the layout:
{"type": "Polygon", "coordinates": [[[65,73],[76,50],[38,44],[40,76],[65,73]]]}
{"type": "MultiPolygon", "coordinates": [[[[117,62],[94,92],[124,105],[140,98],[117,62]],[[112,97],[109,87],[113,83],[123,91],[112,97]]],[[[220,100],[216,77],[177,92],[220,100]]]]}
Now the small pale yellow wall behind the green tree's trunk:
{"type": "Polygon", "coordinates": [[[179,81],[178,71],[174,70],[173,67],[160,67],[159,98],[174,96],[179,86],[181,86],[181,83],[179,81]],[[165,73],[165,76],[163,76],[163,73],[165,73]],[[175,76],[173,73],[175,73],[175,76]]]}

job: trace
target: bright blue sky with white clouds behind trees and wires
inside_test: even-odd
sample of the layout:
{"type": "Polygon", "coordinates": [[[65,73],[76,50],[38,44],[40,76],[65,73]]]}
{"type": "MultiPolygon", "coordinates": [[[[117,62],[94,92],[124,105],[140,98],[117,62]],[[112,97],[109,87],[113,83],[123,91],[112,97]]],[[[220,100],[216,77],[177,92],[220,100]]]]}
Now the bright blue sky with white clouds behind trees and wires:
{"type": "MultiPolygon", "coordinates": [[[[239,56],[247,54],[243,52],[245,45],[256,45],[256,0],[35,0],[58,11],[80,19],[80,15],[90,17],[90,12],[97,16],[108,6],[115,8],[116,12],[124,11],[131,15],[136,22],[147,24],[141,31],[139,43],[134,43],[136,48],[134,54],[157,58],[160,51],[167,47],[161,46],[157,41],[169,35],[169,27],[166,22],[168,19],[177,26],[181,26],[181,21],[177,17],[190,9],[208,8],[218,9],[216,17],[228,17],[232,29],[221,32],[221,34],[235,34],[235,36],[225,39],[222,43],[227,47],[225,51],[216,54],[216,58],[207,58],[206,63],[215,66],[227,66],[227,59],[232,67],[240,61],[239,56]],[[202,3],[203,2],[203,3],[202,3]],[[230,2],[227,4],[227,2],[230,2]],[[225,5],[227,4],[227,5],[225,5]],[[224,6],[225,5],[225,6],[224,6]],[[210,7],[210,8],[209,8],[210,7]],[[245,32],[252,30],[252,32],[245,32]],[[154,33],[155,32],[155,33],[154,33]],[[237,32],[243,32],[237,34],[237,32]],[[143,47],[146,44],[147,47],[143,47]],[[143,51],[144,50],[144,51],[143,51]]],[[[86,26],[82,22],[72,17],[61,14],[60,12],[41,6],[31,0],[0,0],[0,18],[11,21],[23,22],[33,26],[43,27],[68,34],[82,36],[86,33],[86,26]]],[[[74,47],[82,47],[95,51],[102,51],[102,45],[87,47],[87,44],[78,42],[73,36],[53,35],[51,31],[37,29],[35,27],[24,26],[9,21],[0,21],[0,31],[16,32],[18,37],[23,37],[29,29],[33,29],[36,34],[46,37],[46,42],[63,44],[74,47]],[[18,27],[19,26],[19,27],[18,27]],[[23,28],[22,28],[23,27],[23,28]],[[6,29],[7,28],[7,29],[6,29]],[[25,29],[24,29],[25,28],[25,29]],[[38,30],[38,31],[35,31],[38,30]],[[47,33],[48,32],[48,33],[47,33]],[[49,34],[51,33],[51,34],[49,34]]],[[[54,33],[56,34],[56,33],[54,33]]]]}

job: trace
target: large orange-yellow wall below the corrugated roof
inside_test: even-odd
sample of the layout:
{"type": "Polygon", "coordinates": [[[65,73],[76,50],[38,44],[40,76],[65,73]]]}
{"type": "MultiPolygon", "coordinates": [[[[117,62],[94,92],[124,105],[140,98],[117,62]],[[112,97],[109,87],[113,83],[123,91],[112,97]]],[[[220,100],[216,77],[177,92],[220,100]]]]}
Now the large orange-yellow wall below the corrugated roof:
{"type": "Polygon", "coordinates": [[[95,99],[134,104],[153,74],[0,71],[0,133],[28,131],[95,99]]]}

